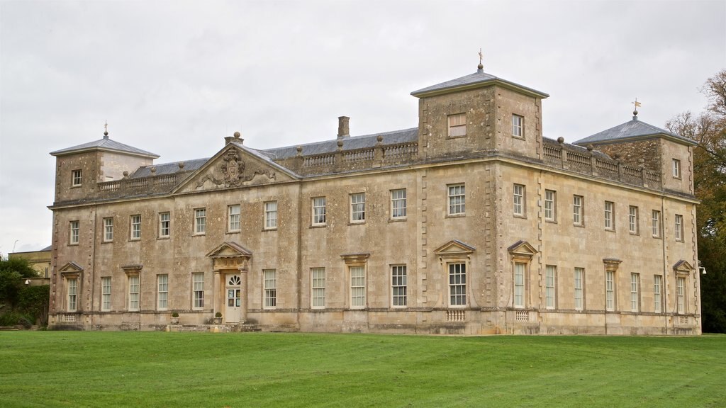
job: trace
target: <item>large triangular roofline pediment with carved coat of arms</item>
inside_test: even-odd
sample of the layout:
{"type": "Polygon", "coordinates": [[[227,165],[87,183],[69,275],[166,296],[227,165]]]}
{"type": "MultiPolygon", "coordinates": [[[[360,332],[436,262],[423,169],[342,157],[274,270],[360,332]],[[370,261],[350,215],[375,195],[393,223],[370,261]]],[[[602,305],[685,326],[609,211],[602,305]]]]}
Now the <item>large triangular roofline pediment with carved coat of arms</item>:
{"type": "Polygon", "coordinates": [[[241,144],[229,143],[181,183],[175,192],[245,187],[293,179],[297,176],[292,171],[261,153],[241,144]]]}

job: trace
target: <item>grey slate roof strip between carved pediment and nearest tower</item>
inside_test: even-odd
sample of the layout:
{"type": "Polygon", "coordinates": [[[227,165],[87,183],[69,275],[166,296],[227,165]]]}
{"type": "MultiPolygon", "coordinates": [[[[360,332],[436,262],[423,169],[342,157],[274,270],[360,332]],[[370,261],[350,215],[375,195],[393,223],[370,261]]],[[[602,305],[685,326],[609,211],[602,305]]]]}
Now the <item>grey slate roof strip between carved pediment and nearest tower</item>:
{"type": "MultiPolygon", "coordinates": [[[[343,140],[343,150],[354,150],[354,149],[362,149],[365,147],[375,147],[375,144],[378,142],[378,136],[383,136],[383,143],[384,145],[387,144],[399,144],[399,143],[407,143],[407,142],[417,142],[418,141],[418,128],[409,128],[404,129],[401,131],[388,131],[383,133],[377,133],[377,134],[367,134],[364,136],[349,136],[345,137],[341,140],[343,140]]],[[[325,140],[322,142],[314,142],[314,143],[307,143],[307,144],[299,144],[299,146],[303,147],[303,155],[319,155],[322,153],[333,153],[338,151],[338,139],[333,140],[325,140]]],[[[285,159],[285,158],[291,158],[298,154],[297,150],[298,145],[295,146],[287,146],[287,147],[277,147],[273,149],[267,149],[267,150],[258,150],[262,155],[266,155],[267,157],[271,159],[285,159]]]]}

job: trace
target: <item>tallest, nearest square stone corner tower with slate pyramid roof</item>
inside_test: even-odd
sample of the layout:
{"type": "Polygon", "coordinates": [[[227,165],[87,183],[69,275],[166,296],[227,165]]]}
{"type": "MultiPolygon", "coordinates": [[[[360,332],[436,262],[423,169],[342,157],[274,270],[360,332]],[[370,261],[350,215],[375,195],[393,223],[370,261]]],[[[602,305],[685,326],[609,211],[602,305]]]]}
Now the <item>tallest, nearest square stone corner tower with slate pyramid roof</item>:
{"type": "Polygon", "coordinates": [[[497,150],[539,158],[544,92],[476,73],[411,92],[419,98],[419,157],[497,150]]]}

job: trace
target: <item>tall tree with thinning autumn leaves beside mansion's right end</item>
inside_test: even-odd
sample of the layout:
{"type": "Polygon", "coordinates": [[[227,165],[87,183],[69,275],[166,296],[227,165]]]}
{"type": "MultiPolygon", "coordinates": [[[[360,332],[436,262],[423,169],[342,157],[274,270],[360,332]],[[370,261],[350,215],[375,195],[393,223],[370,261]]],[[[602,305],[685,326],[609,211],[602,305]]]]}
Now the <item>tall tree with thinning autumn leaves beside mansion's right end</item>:
{"type": "Polygon", "coordinates": [[[726,70],[703,84],[706,111],[690,112],[666,122],[669,131],[698,142],[693,152],[693,187],[701,205],[696,209],[701,275],[701,316],[704,332],[726,332],[726,70]]]}

